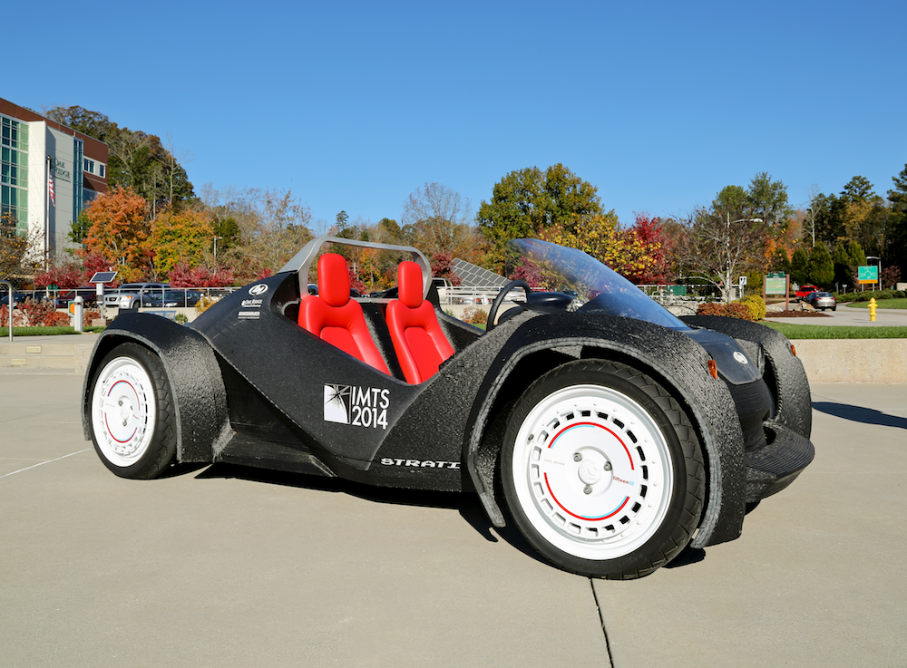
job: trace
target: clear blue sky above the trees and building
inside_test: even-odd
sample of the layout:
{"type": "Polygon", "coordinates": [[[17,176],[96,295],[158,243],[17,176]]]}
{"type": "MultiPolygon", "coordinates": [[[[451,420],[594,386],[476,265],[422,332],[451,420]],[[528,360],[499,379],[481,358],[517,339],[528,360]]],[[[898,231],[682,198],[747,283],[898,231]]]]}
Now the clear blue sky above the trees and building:
{"type": "Polygon", "coordinates": [[[855,175],[884,196],[907,163],[903,0],[41,6],[0,97],[169,137],[197,192],[292,189],[328,223],[399,220],[425,182],[474,211],[557,162],[624,224],[761,171],[794,205],[855,175]]]}

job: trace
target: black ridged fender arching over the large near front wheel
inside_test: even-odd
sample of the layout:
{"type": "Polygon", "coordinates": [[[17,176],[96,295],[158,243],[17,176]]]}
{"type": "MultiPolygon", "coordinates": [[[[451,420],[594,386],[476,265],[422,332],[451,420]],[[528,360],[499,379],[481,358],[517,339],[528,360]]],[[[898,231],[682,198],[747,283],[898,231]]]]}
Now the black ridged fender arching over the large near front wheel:
{"type": "MultiPolygon", "coordinates": [[[[494,335],[501,329],[498,327],[486,335],[494,335]]],[[[574,358],[629,360],[676,392],[696,423],[709,476],[708,499],[691,545],[705,547],[740,536],[746,509],[743,434],[727,386],[707,371],[709,354],[678,331],[595,312],[556,317],[536,315],[522,322],[485,374],[473,405],[473,429],[464,444],[463,461],[494,526],[504,524],[494,499],[496,453],[492,457],[488,447],[483,447],[486,432],[493,430],[490,423],[493,407],[508,378],[523,360],[551,350],[564,351],[574,358]]],[[[542,369],[536,377],[547,370],[542,369]]]]}

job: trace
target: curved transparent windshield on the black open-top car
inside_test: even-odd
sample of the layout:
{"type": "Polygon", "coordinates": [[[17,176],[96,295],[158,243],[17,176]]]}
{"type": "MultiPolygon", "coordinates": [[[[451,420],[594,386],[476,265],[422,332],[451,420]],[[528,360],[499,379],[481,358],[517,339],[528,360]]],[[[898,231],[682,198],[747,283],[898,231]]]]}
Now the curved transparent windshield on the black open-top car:
{"type": "Polygon", "coordinates": [[[538,239],[513,239],[506,246],[507,273],[532,287],[572,295],[579,311],[604,311],[671,329],[689,329],[664,306],[609,266],[576,248],[538,239]]]}

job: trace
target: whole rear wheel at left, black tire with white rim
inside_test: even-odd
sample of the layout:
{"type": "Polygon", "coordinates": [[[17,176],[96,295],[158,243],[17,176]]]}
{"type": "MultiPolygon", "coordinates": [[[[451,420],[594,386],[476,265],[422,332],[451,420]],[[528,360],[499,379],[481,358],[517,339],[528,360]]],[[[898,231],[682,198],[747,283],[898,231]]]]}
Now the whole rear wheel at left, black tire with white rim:
{"type": "Polygon", "coordinates": [[[121,478],[156,478],[176,456],[176,416],[163,364],[120,344],[93,373],[88,411],[94,450],[121,478]]]}

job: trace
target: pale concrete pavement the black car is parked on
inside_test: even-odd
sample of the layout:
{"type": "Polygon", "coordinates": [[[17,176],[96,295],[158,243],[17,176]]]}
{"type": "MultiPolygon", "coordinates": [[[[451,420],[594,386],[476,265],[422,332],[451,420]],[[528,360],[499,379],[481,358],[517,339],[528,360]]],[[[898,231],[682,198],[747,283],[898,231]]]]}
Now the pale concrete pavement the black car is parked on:
{"type": "Polygon", "coordinates": [[[814,385],[816,459],[743,537],[619,583],[541,563],[472,496],[223,466],[118,479],[83,440],[81,383],[0,375],[3,665],[894,666],[907,655],[905,385],[814,385]]]}

